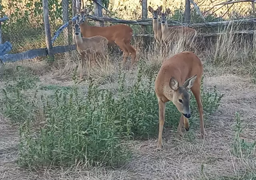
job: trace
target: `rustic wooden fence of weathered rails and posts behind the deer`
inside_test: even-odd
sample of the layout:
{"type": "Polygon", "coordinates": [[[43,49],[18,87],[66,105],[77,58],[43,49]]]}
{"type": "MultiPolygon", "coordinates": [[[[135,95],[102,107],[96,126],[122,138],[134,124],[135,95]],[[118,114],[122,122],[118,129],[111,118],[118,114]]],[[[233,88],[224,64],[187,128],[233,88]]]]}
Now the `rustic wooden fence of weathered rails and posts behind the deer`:
{"type": "MultiPolygon", "coordinates": [[[[74,0],[75,1],[75,0],[74,0]]],[[[145,0],[142,0],[142,4],[144,3],[143,7],[145,8],[145,0]]],[[[64,1],[63,1],[64,2],[64,1]]],[[[73,1],[72,1],[73,2],[73,1]]],[[[98,1],[95,1],[96,4],[99,5],[98,1]]],[[[190,0],[191,3],[194,3],[192,0],[190,0]]],[[[102,5],[101,5],[102,6],[102,5]]],[[[198,12],[199,8],[198,8],[198,12]]],[[[117,18],[106,18],[106,17],[100,17],[100,16],[89,16],[88,19],[94,20],[97,22],[113,22],[113,23],[122,23],[122,24],[137,24],[141,26],[152,26],[152,19],[148,19],[147,15],[144,13],[144,18],[142,20],[121,20],[117,18]]],[[[142,13],[142,14],[143,14],[142,13]]],[[[75,14],[74,14],[75,15],[75,14]]],[[[39,48],[39,49],[33,49],[28,50],[26,52],[18,53],[18,54],[7,54],[11,49],[12,45],[10,42],[6,41],[4,44],[0,44],[0,62],[16,62],[18,60],[24,60],[24,59],[32,59],[38,56],[52,56],[54,57],[54,54],[57,53],[63,53],[68,52],[72,50],[76,50],[76,45],[67,45],[67,46],[56,46],[53,47],[52,44],[58,38],[60,33],[69,26],[69,22],[67,20],[66,23],[64,23],[56,32],[54,32],[53,38],[51,38],[51,32],[50,32],[50,24],[49,24],[49,16],[48,16],[48,0],[43,0],[43,16],[44,16],[44,26],[45,26],[45,36],[46,36],[46,48],[39,48]]],[[[72,18],[72,21],[75,21],[78,18],[78,16],[74,16],[72,18]]],[[[203,17],[202,17],[203,18],[203,17]]],[[[0,18],[1,20],[7,20],[7,17],[0,18]]],[[[228,24],[255,24],[256,18],[251,19],[243,19],[243,20],[233,20],[233,21],[222,21],[222,22],[204,22],[204,23],[198,23],[198,24],[190,24],[190,23],[181,23],[178,21],[168,21],[169,26],[186,26],[186,27],[192,27],[192,28],[202,28],[202,27],[218,27],[218,26],[227,26],[228,24]]],[[[101,23],[99,23],[101,24],[101,23]]],[[[232,32],[237,34],[254,34],[254,30],[246,30],[246,31],[238,31],[238,32],[232,32]]],[[[222,33],[207,33],[207,34],[198,34],[198,36],[202,37],[208,37],[208,36],[218,36],[222,33]]],[[[140,36],[140,37],[154,37],[153,34],[135,34],[134,36],[140,36]]],[[[1,40],[1,38],[0,38],[1,40]]],[[[73,42],[74,43],[74,42],[73,42]]]]}

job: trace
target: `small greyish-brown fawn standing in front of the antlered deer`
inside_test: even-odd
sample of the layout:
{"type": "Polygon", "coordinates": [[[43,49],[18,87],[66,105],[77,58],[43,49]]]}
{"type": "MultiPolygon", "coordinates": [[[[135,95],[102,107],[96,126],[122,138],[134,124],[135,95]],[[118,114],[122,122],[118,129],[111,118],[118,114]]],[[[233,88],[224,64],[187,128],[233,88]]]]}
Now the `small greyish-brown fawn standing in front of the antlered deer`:
{"type": "MultiPolygon", "coordinates": [[[[73,30],[75,32],[75,40],[76,40],[76,50],[78,54],[81,56],[81,72],[80,79],[82,79],[82,72],[84,67],[84,59],[85,56],[89,54],[100,54],[100,56],[104,56],[108,44],[107,38],[103,36],[93,36],[90,38],[82,38],[80,24],[84,23],[84,20],[81,19],[78,24],[74,23],[72,20],[69,20],[69,23],[73,26],[73,30]]],[[[88,56],[87,56],[88,57],[88,56]]]]}

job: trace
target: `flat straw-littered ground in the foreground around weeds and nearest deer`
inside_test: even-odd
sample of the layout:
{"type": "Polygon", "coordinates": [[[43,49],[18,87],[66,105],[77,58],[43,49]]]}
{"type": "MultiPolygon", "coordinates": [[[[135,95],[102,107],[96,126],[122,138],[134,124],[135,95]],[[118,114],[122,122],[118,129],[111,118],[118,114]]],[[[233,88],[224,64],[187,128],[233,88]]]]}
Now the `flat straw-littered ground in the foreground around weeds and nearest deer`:
{"type": "Polygon", "coordinates": [[[180,141],[174,140],[172,130],[164,129],[162,151],[156,150],[156,139],[134,141],[132,160],[119,169],[88,168],[86,164],[73,168],[48,166],[38,172],[21,169],[15,164],[17,127],[0,116],[0,179],[238,180],[248,172],[255,173],[256,177],[255,150],[254,158],[238,158],[232,154],[236,111],[243,122],[242,138],[249,142],[256,139],[256,86],[248,78],[229,74],[211,77],[206,74],[204,85],[206,88],[216,86],[224,94],[219,110],[205,121],[205,141],[199,139],[199,128],[191,129],[189,136],[185,133],[180,141]]]}

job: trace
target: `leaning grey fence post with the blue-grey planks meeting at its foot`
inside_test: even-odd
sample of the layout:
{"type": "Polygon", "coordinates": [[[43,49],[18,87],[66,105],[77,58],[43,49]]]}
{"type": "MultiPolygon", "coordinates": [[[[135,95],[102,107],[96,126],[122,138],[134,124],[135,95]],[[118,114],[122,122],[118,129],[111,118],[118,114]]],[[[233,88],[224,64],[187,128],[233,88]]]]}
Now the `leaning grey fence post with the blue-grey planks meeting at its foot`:
{"type": "Polygon", "coordinates": [[[48,55],[53,58],[52,60],[54,60],[54,55],[52,54],[52,38],[51,38],[51,30],[50,30],[50,22],[49,22],[49,14],[48,14],[48,0],[43,0],[43,16],[44,16],[46,47],[47,47],[48,55]]]}

